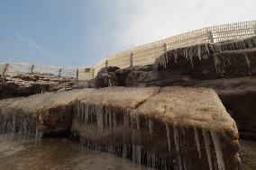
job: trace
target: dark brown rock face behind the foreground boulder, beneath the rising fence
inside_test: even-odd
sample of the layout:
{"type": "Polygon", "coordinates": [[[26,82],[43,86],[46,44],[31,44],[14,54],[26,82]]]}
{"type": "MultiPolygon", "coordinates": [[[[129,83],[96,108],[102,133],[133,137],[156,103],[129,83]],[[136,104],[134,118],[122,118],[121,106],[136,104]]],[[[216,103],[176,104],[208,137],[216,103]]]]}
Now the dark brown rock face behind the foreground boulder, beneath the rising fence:
{"type": "Polygon", "coordinates": [[[115,71],[113,85],[215,89],[242,137],[256,139],[256,37],[170,49],[154,65],[115,71]]]}

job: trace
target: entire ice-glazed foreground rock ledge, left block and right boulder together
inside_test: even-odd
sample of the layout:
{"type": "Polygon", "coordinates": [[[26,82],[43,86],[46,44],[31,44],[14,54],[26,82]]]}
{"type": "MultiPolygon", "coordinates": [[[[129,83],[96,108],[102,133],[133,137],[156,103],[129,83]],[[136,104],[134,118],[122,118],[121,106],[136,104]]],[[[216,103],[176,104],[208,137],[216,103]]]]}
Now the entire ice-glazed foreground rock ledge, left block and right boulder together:
{"type": "Polygon", "coordinates": [[[2,132],[72,130],[97,148],[158,169],[237,169],[238,131],[213,90],[108,87],[0,102],[2,132]]]}

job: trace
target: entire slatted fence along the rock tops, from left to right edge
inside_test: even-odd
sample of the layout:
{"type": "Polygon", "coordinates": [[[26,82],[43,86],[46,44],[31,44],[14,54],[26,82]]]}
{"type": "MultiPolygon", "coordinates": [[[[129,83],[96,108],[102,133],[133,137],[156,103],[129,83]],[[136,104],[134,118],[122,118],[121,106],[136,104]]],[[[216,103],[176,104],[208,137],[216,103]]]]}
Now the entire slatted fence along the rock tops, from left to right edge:
{"type": "Polygon", "coordinates": [[[236,40],[256,35],[256,21],[236,22],[231,24],[206,27],[196,31],[189,31],[168,39],[158,40],[134,49],[124,50],[102,59],[94,68],[52,67],[47,65],[0,63],[0,74],[17,75],[19,73],[51,73],[55,76],[77,77],[78,80],[87,80],[96,76],[100,68],[116,66],[120,68],[144,66],[152,64],[165,51],[180,47],[186,47],[198,43],[220,42],[236,40]],[[7,68],[7,69],[5,69],[7,68]]]}

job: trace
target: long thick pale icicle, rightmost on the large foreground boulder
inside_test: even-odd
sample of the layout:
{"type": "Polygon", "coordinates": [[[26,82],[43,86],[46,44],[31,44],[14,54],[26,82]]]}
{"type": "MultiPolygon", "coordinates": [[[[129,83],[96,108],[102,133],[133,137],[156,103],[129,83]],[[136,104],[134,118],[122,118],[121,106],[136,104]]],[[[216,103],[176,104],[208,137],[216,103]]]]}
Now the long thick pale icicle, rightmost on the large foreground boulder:
{"type": "Polygon", "coordinates": [[[223,157],[220,139],[219,139],[218,135],[216,134],[216,132],[213,130],[211,130],[211,135],[212,135],[212,139],[213,139],[214,145],[215,145],[215,154],[217,157],[218,168],[219,168],[219,170],[225,170],[224,157],[223,157]]]}

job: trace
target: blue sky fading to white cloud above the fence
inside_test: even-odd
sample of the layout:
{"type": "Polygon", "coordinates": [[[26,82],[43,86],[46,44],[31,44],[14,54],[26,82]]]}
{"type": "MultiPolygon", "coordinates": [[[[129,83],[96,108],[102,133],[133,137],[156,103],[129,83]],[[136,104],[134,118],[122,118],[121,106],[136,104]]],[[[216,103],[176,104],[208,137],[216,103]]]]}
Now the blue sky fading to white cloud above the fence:
{"type": "Polygon", "coordinates": [[[123,49],[256,20],[256,0],[0,0],[0,62],[93,66],[123,49]]]}

